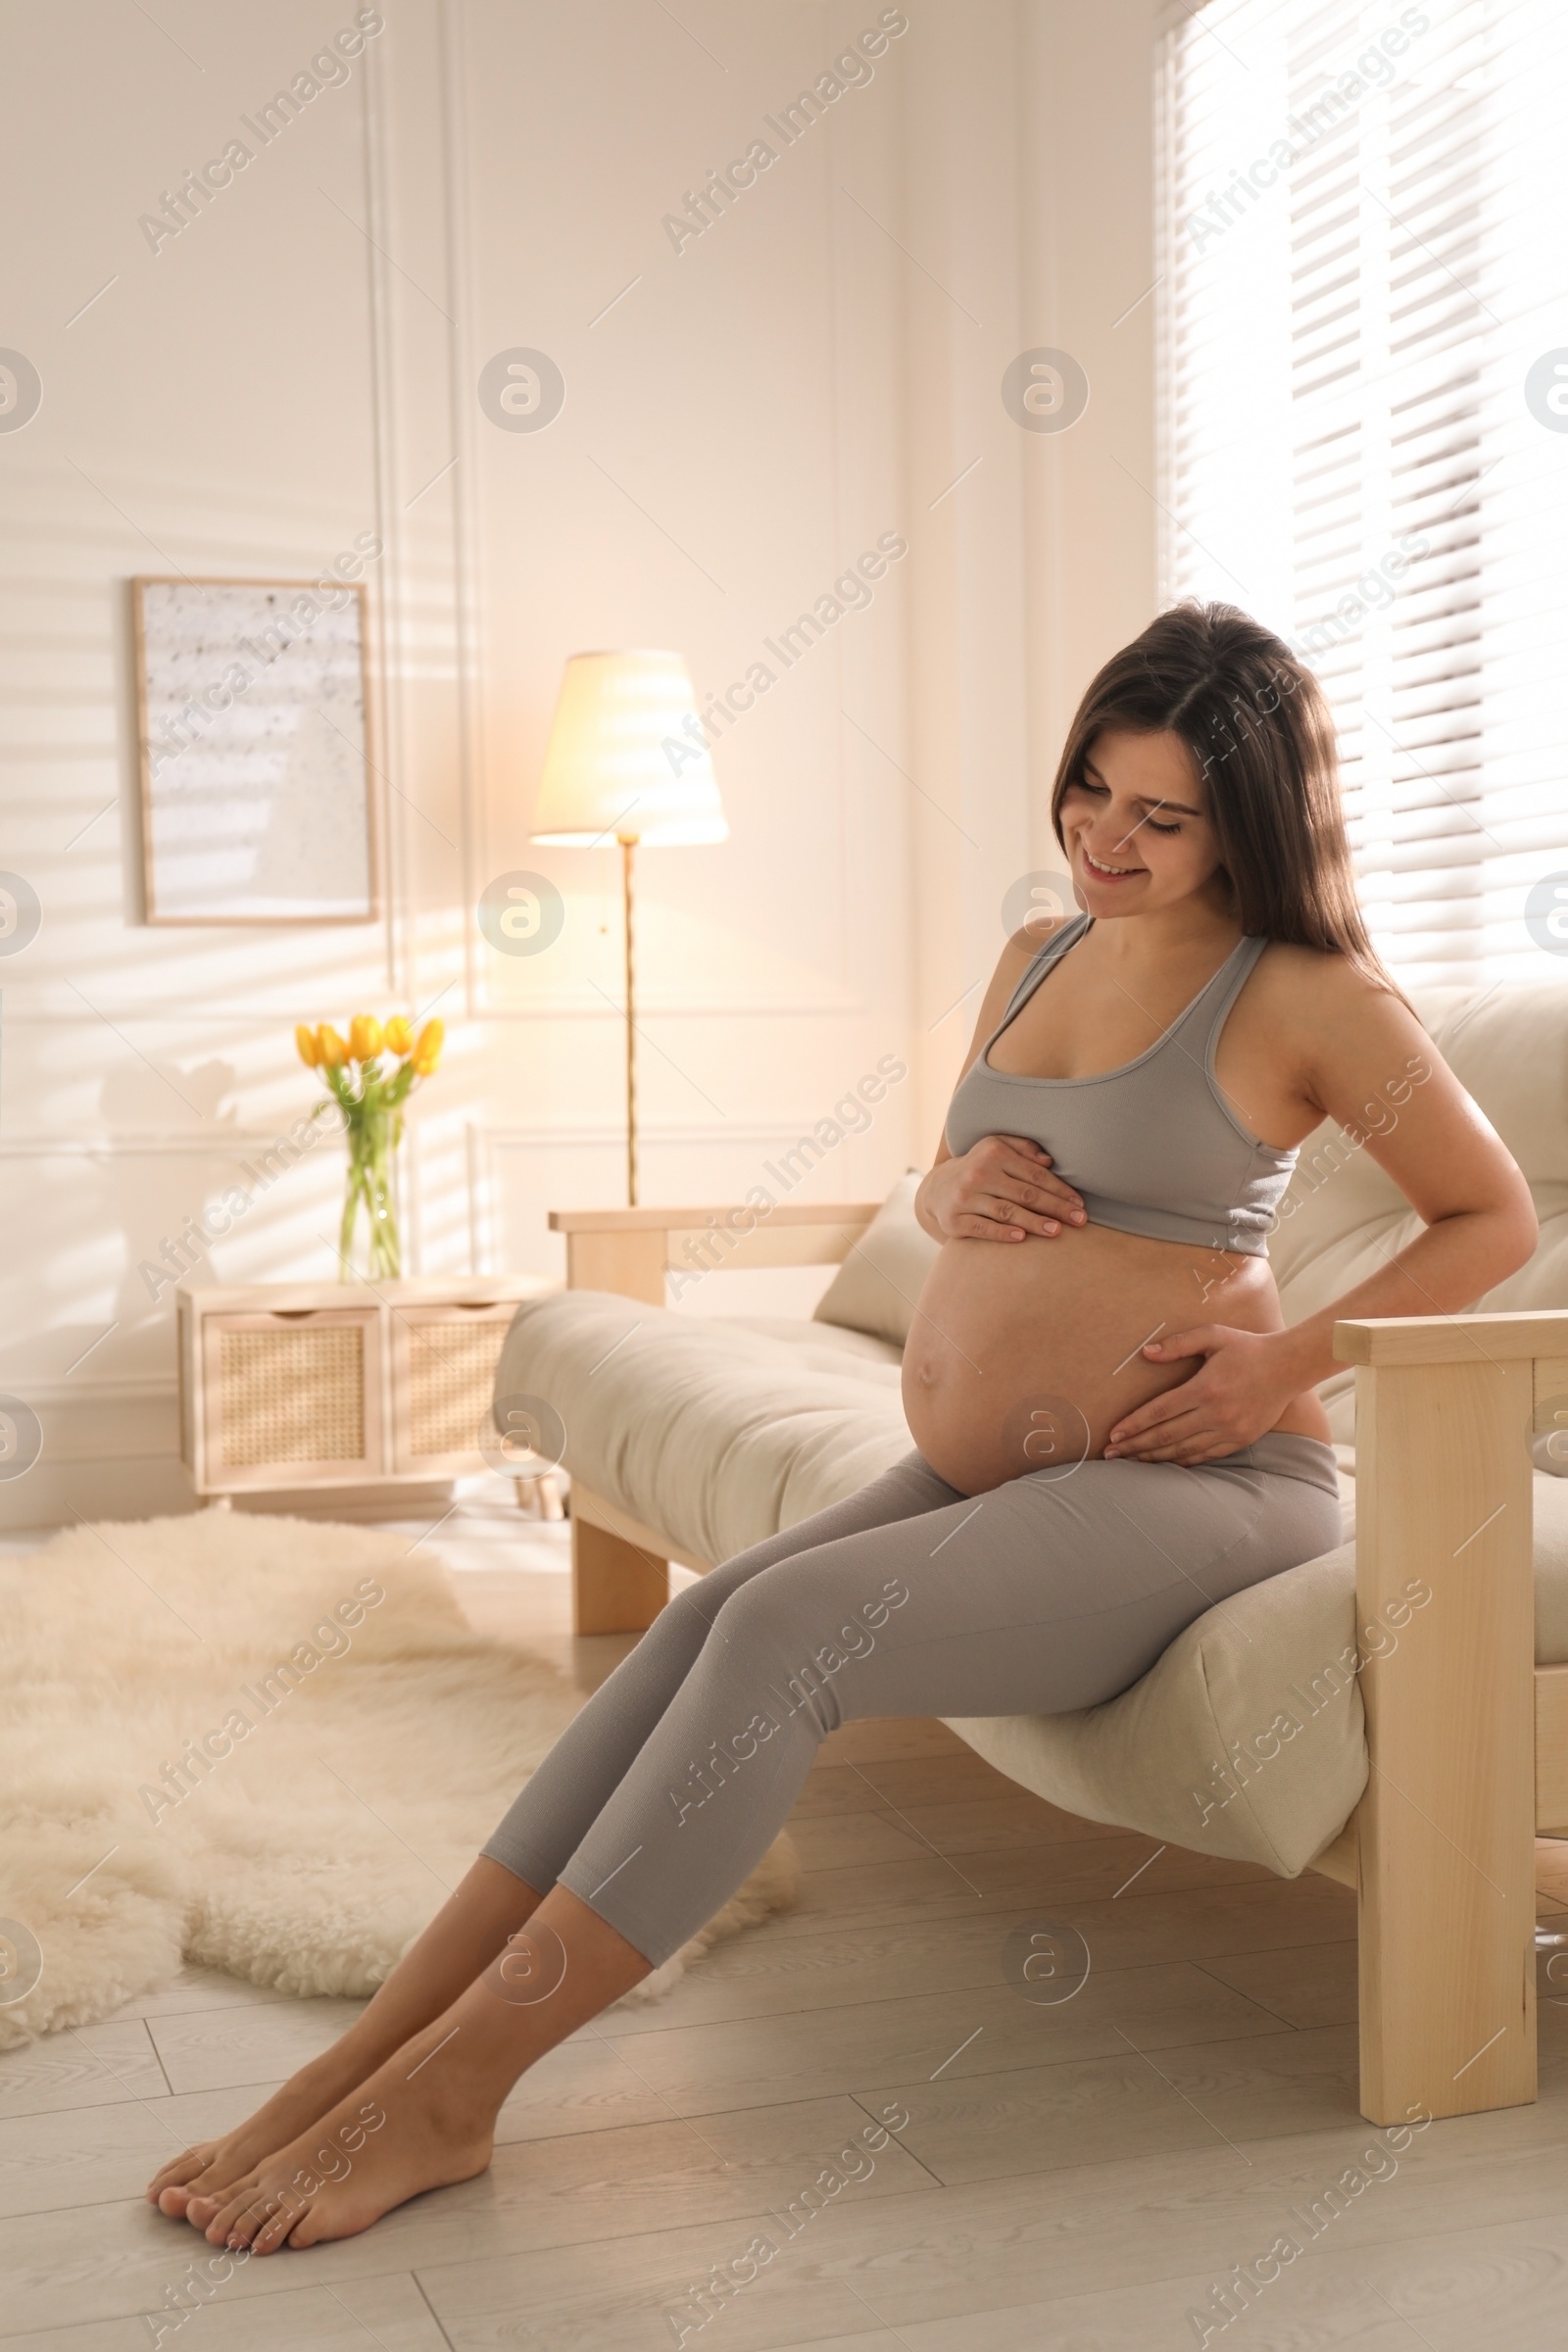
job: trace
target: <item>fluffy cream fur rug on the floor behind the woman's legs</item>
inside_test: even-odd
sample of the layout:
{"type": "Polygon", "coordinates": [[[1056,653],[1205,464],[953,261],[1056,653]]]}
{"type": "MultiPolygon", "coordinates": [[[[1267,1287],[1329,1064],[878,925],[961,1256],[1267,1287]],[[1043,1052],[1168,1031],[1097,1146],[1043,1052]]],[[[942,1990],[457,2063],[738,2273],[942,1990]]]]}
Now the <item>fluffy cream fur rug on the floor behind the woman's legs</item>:
{"type": "MultiPolygon", "coordinates": [[[[310,1519],[66,1529],[0,1562],[0,1922],[24,1929],[0,1926],[0,2049],[181,1955],[371,1992],[578,1708],[548,1661],[470,1632],[428,1550],[310,1519]],[[28,1938],[42,1971],[5,1999],[28,1938]]],[[[642,1997],[792,1898],[780,1837],[642,1997]]]]}

